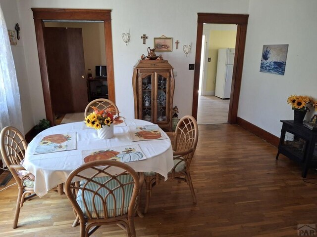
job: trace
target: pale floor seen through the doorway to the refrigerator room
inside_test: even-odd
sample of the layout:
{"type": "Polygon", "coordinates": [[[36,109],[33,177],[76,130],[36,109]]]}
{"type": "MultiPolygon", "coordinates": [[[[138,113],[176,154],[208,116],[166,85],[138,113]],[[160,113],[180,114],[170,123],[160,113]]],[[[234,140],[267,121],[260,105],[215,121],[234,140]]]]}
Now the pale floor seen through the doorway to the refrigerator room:
{"type": "Polygon", "coordinates": [[[218,124],[228,122],[229,100],[216,96],[198,97],[197,123],[218,124]]]}

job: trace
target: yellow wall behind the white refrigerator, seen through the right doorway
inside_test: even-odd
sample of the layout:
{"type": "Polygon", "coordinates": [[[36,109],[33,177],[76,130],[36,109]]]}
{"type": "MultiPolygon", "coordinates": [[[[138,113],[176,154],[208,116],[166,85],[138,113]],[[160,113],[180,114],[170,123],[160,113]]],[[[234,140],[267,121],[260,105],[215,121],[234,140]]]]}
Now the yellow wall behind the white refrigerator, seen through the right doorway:
{"type": "Polygon", "coordinates": [[[219,48],[235,48],[236,31],[210,31],[209,57],[206,91],[215,90],[217,59],[219,48]]]}

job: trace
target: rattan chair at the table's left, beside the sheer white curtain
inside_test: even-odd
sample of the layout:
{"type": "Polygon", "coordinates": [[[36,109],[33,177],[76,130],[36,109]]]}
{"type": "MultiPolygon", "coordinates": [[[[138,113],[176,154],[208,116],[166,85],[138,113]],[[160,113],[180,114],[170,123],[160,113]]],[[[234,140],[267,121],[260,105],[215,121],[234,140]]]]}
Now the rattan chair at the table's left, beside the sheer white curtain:
{"type": "Polygon", "coordinates": [[[13,229],[17,227],[20,209],[26,200],[36,196],[34,193],[34,175],[27,172],[21,165],[27,143],[22,133],[15,127],[4,127],[0,133],[1,155],[6,166],[18,185],[18,197],[13,221],[13,229]]]}

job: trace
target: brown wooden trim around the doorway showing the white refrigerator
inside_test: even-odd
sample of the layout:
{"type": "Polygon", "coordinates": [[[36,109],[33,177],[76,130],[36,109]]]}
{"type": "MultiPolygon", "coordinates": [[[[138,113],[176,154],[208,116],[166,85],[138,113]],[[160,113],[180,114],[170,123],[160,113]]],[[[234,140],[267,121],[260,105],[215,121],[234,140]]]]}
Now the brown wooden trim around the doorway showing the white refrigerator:
{"type": "Polygon", "coordinates": [[[229,103],[228,123],[237,122],[238,103],[240,95],[240,86],[242,78],[243,57],[247,35],[249,15],[242,14],[217,14],[217,13],[198,13],[197,39],[196,39],[196,57],[195,57],[195,72],[194,72],[194,91],[193,91],[193,106],[192,115],[197,119],[198,108],[198,90],[199,90],[199,72],[200,58],[202,51],[203,26],[208,24],[236,24],[236,50],[233,65],[233,77],[231,85],[231,95],[229,103]]]}

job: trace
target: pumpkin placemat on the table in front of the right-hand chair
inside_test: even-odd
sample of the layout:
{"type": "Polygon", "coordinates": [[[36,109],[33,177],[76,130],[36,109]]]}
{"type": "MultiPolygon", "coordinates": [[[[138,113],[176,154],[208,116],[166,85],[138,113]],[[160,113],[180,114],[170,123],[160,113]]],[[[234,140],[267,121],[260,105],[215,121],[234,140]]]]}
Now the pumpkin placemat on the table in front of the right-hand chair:
{"type": "Polygon", "coordinates": [[[166,139],[158,125],[129,126],[132,141],[149,141],[166,139]]]}

